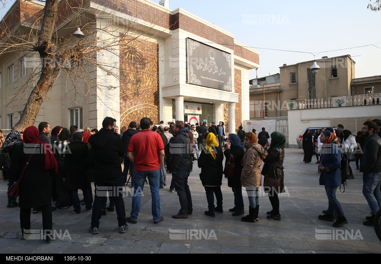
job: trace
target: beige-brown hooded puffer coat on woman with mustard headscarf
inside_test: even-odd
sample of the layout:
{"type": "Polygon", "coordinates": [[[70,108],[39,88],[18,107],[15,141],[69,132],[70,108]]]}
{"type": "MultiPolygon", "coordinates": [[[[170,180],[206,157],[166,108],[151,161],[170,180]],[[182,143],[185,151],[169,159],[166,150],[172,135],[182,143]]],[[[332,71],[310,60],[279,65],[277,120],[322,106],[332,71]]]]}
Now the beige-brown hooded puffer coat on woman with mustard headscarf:
{"type": "Polygon", "coordinates": [[[267,151],[258,143],[250,145],[243,156],[241,183],[243,187],[259,187],[262,180],[259,167],[262,165],[262,160],[266,159],[267,151]]]}

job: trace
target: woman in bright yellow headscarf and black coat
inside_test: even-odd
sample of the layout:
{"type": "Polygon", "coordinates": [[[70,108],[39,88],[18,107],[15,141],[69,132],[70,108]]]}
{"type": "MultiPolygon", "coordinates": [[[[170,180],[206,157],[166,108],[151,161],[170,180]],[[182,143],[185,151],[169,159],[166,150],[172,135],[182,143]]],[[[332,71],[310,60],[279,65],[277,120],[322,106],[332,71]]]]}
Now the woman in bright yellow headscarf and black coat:
{"type": "Polygon", "coordinates": [[[201,168],[200,180],[202,186],[205,188],[208,200],[208,211],[205,211],[205,215],[215,216],[215,211],[224,212],[222,208],[222,161],[224,155],[222,148],[218,146],[216,136],[213,133],[209,133],[205,140],[204,151],[201,151],[200,157],[197,161],[199,168],[201,168]],[[214,205],[214,195],[216,195],[217,207],[214,205]]]}

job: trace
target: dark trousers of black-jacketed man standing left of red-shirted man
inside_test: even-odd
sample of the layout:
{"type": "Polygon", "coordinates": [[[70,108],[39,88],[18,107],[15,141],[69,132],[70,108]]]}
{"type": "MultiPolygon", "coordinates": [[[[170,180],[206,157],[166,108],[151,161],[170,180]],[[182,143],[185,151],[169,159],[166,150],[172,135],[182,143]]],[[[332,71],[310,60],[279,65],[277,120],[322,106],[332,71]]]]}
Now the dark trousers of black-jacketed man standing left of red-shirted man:
{"type": "MultiPolygon", "coordinates": [[[[112,199],[115,203],[115,211],[117,213],[117,219],[118,219],[118,226],[124,226],[127,223],[126,219],[126,212],[124,207],[124,201],[123,201],[123,193],[118,192],[117,189],[120,189],[123,187],[123,176],[121,175],[118,179],[111,180],[100,180],[100,179],[94,179],[94,185],[95,185],[95,197],[94,197],[94,203],[93,203],[93,215],[91,216],[91,226],[99,228],[99,220],[102,216],[102,206],[107,203],[107,191],[109,189],[112,189],[112,199]],[[110,188],[111,186],[112,188],[110,188]],[[118,188],[114,188],[118,187],[118,188]],[[117,193],[114,193],[117,191],[117,193]]],[[[111,195],[111,194],[109,194],[111,195]]],[[[106,209],[106,208],[105,208],[106,209]]]]}

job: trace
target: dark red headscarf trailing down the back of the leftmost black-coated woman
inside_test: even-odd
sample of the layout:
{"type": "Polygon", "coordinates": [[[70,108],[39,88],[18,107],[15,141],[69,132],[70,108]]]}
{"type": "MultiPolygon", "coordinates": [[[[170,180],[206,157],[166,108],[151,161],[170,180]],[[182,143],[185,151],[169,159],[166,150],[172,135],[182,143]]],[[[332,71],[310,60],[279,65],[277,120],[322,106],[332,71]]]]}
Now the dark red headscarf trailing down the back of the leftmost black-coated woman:
{"type": "Polygon", "coordinates": [[[58,165],[56,158],[54,157],[51,146],[48,143],[39,140],[40,133],[37,127],[30,126],[24,130],[24,144],[41,144],[41,149],[45,154],[45,170],[55,170],[58,173],[58,165]]]}

